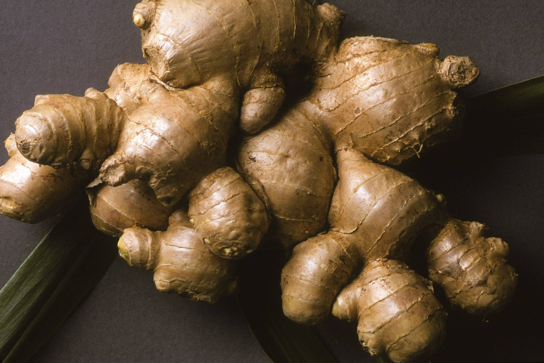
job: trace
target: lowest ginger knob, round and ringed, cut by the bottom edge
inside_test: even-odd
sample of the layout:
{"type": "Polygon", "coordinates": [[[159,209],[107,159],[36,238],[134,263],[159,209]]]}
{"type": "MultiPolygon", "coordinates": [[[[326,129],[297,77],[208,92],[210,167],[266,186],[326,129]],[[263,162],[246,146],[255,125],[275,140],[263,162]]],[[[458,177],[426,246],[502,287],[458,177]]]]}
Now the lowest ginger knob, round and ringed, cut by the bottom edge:
{"type": "Polygon", "coordinates": [[[338,295],[333,315],[358,321],[372,355],[412,362],[435,353],[446,338],[446,316],[432,284],[403,262],[374,260],[338,295]]]}

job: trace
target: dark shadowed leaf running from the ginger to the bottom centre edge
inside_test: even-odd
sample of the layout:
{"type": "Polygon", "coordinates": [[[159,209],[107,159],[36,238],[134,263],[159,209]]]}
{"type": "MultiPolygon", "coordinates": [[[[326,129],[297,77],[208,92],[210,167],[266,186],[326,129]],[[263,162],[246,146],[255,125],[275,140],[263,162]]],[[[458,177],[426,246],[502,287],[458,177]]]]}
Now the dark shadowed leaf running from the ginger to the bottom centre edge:
{"type": "Polygon", "coordinates": [[[279,253],[264,250],[240,268],[238,304],[251,332],[275,363],[336,362],[310,327],[283,315],[280,261],[279,253]]]}

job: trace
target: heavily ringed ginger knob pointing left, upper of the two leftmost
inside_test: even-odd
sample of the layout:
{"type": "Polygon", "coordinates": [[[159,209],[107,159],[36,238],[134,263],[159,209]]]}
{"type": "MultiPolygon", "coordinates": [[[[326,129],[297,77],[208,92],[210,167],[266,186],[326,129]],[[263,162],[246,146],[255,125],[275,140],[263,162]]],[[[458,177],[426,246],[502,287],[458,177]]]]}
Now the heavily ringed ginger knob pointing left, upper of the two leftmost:
{"type": "Polygon", "coordinates": [[[85,97],[36,96],[34,107],[15,121],[15,140],[34,163],[60,168],[77,162],[97,170],[113,152],[124,123],[123,109],[93,88],[85,97]]]}

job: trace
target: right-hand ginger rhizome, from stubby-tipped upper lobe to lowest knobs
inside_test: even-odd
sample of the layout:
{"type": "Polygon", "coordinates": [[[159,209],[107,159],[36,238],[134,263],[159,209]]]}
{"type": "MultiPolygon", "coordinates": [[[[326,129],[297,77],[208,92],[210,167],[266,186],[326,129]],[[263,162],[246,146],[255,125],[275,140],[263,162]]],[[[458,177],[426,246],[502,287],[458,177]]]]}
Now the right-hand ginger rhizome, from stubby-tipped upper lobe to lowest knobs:
{"type": "Polygon", "coordinates": [[[332,311],[358,319],[363,346],[395,362],[424,359],[443,342],[446,313],[430,281],[400,262],[416,240],[436,236],[439,250],[456,247],[450,260],[429,265],[453,304],[463,306],[460,292],[463,299],[482,295],[478,311],[468,310],[496,312],[516,285],[502,242],[490,248],[477,233],[478,245],[487,247],[472,253],[474,268],[453,266],[456,254],[476,242],[448,232],[453,222],[443,196],[379,164],[419,157],[458,133],[463,108],[454,89],[474,82],[479,70],[468,58],[437,56],[432,44],[345,40],[310,94],[238,148],[240,173],[267,201],[271,233],[288,248],[296,245],[282,271],[286,316],[317,323],[332,311]]]}

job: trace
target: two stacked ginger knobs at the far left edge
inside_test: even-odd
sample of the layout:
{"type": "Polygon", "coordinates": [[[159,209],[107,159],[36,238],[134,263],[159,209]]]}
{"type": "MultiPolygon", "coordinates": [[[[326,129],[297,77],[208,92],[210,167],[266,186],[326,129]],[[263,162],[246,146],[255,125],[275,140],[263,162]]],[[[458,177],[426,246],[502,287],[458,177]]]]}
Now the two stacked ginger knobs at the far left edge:
{"type": "Polygon", "coordinates": [[[84,97],[36,96],[6,140],[0,213],[37,223],[62,212],[113,152],[124,122],[125,111],[92,88],[84,97]]]}

